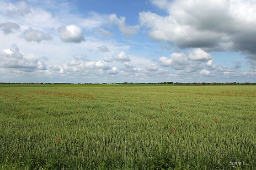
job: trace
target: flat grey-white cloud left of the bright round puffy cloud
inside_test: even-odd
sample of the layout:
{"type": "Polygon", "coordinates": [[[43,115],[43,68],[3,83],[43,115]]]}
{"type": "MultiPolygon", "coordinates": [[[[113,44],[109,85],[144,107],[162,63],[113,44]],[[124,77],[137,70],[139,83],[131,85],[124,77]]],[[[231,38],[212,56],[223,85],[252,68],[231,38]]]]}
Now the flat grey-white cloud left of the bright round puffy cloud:
{"type": "Polygon", "coordinates": [[[21,37],[23,37],[28,42],[36,41],[37,43],[41,42],[42,40],[52,40],[53,39],[51,37],[51,35],[48,35],[47,33],[44,33],[41,30],[33,30],[32,28],[24,30],[21,37]]]}

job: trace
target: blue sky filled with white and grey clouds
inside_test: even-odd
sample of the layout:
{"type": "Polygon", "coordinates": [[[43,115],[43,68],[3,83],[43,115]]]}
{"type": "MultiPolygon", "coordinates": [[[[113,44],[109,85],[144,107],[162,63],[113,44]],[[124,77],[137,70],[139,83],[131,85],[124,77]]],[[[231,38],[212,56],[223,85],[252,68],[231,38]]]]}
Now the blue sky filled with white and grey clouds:
{"type": "Polygon", "coordinates": [[[256,0],[0,0],[0,82],[256,82],[256,0]]]}

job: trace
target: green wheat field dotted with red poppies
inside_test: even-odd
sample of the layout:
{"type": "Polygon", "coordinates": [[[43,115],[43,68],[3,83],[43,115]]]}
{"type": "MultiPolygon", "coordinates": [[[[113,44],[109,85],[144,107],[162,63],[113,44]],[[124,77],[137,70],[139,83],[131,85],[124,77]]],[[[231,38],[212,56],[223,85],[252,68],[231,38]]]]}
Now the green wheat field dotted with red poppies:
{"type": "Polygon", "coordinates": [[[251,170],[255,151],[255,85],[0,85],[2,169],[251,170]]]}

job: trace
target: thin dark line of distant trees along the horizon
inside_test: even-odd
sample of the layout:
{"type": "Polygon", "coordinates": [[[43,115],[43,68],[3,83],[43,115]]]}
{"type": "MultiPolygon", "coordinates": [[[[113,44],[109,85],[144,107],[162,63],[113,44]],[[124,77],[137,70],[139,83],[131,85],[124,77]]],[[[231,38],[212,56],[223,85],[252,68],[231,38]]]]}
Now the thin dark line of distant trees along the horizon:
{"type": "MultiPolygon", "coordinates": [[[[8,83],[8,82],[0,82],[0,84],[75,84],[75,83],[8,83]]],[[[81,84],[81,83],[77,83],[81,84]]],[[[83,84],[99,84],[99,83],[83,83],[83,84]]],[[[108,83],[102,83],[108,84],[108,83]]],[[[111,83],[111,84],[134,84],[134,85],[141,85],[141,84],[169,84],[169,85],[256,85],[256,83],[239,83],[239,82],[226,82],[226,83],[205,83],[205,82],[193,82],[193,83],[181,83],[181,82],[158,82],[158,83],[133,83],[133,82],[123,82],[123,83],[111,83]]]]}

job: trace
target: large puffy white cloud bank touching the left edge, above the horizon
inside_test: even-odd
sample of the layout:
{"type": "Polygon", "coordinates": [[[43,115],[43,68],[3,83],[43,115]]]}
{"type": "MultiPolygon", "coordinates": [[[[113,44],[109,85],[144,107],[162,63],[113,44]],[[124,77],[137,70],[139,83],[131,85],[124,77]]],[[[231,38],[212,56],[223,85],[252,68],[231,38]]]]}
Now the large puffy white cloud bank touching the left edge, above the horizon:
{"type": "Polygon", "coordinates": [[[46,66],[45,59],[39,59],[32,54],[24,55],[15,44],[10,49],[0,52],[0,67],[2,68],[32,72],[46,70],[46,66]]]}

